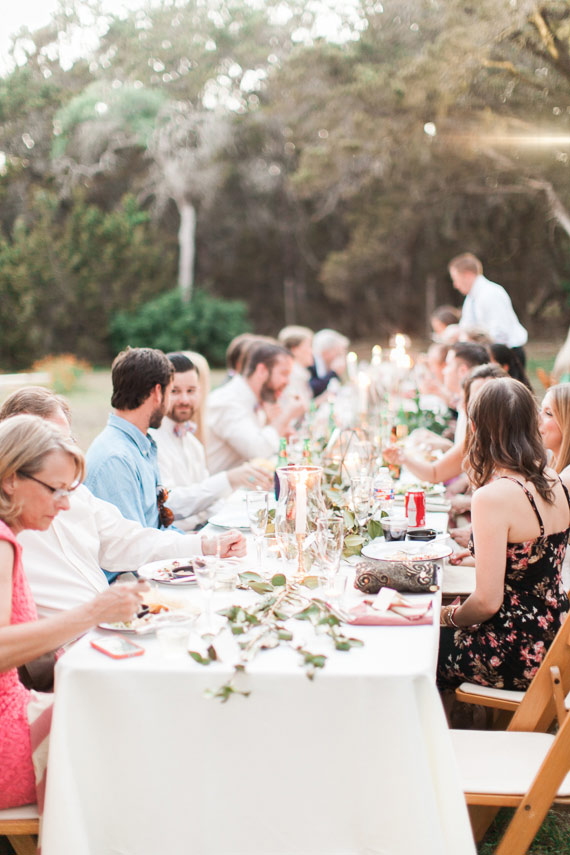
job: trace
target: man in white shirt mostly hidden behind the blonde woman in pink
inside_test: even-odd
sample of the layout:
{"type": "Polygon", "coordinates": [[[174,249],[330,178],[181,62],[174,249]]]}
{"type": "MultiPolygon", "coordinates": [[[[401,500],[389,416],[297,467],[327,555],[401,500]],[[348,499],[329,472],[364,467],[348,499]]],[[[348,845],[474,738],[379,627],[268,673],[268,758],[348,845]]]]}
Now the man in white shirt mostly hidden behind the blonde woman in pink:
{"type": "MultiPolygon", "coordinates": [[[[30,414],[46,419],[70,437],[67,402],[41,386],[13,392],[0,407],[0,421],[30,414]]],[[[238,532],[221,535],[222,554],[243,554],[238,532]]],[[[23,531],[24,568],[41,617],[57,614],[107,590],[108,579],[161,558],[187,558],[200,553],[201,538],[174,529],[143,528],[125,519],[118,508],[80,484],[69,497],[69,509],[46,531],[23,531]],[[105,572],[103,572],[105,571],[105,572]]]]}

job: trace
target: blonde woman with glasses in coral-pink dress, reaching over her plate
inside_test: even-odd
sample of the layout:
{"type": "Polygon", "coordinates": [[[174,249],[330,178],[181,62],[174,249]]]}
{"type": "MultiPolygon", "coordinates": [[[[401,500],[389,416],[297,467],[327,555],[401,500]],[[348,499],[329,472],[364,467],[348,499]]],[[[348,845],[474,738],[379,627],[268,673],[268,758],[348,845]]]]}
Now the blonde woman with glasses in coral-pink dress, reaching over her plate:
{"type": "Polygon", "coordinates": [[[83,470],[81,451],[43,419],[14,416],[0,425],[0,809],[37,800],[41,811],[45,786],[45,763],[38,768],[36,752],[34,774],[32,755],[43,748],[36,734],[49,728],[52,696],[25,689],[17,668],[101,621],[130,620],[148,589],[117,585],[75,609],[37,619],[16,535],[49,528],[69,507],[83,470]]]}

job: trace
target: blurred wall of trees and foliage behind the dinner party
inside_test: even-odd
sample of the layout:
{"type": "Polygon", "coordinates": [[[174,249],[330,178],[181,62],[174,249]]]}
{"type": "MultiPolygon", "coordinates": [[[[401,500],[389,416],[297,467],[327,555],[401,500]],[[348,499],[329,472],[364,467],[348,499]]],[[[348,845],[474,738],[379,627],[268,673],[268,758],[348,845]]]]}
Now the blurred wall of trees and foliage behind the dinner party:
{"type": "Polygon", "coordinates": [[[12,57],[0,369],[192,327],[217,363],[245,328],[422,335],[465,250],[565,334],[568,2],[66,0],[12,57]]]}

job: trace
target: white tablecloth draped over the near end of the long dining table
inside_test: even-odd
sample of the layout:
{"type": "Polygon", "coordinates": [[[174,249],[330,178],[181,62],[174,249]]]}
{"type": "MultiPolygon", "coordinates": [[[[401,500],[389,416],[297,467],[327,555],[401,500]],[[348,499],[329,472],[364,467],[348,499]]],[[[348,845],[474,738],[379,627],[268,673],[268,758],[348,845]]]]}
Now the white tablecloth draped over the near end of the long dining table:
{"type": "MultiPolygon", "coordinates": [[[[363,597],[349,585],[347,607],[363,597]]],[[[144,635],[144,655],[113,660],[94,630],[56,669],[44,855],[474,855],[435,686],[438,606],[428,625],[350,626],[364,645],[349,652],[319,638],[312,680],[291,647],[263,651],[227,703],[207,696],[223,659],[170,658],[144,635]]]]}

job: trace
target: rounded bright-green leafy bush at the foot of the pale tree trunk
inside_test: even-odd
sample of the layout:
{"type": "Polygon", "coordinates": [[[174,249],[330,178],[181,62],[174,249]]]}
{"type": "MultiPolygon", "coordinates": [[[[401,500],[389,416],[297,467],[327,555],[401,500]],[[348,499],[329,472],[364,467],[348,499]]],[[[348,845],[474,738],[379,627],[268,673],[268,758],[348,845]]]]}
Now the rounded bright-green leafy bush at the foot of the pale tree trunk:
{"type": "Polygon", "coordinates": [[[189,303],[169,291],[136,311],[119,312],[109,325],[115,352],[131,347],[195,350],[212,365],[223,365],[226,347],[248,327],[242,300],[222,300],[196,289],[189,303]]]}

